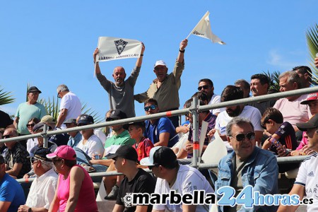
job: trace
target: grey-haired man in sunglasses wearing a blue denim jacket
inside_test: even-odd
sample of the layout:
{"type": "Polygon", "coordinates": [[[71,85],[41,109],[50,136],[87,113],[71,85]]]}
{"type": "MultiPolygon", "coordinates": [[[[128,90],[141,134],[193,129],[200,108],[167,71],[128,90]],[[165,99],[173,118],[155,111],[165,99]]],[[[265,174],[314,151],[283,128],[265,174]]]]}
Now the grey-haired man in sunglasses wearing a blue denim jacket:
{"type": "MultiPolygon", "coordinates": [[[[255,147],[254,126],[249,119],[234,117],[226,126],[227,140],[232,146],[229,153],[220,160],[216,189],[230,186],[236,195],[247,185],[259,194],[278,194],[278,165],[273,153],[255,147]]],[[[235,196],[236,196],[235,195],[235,196]]],[[[220,211],[237,211],[239,206],[219,206],[220,211]]],[[[261,206],[262,211],[276,211],[276,206],[261,206]]],[[[251,211],[257,211],[253,206],[251,211]]],[[[243,211],[243,208],[242,208],[243,211]]]]}

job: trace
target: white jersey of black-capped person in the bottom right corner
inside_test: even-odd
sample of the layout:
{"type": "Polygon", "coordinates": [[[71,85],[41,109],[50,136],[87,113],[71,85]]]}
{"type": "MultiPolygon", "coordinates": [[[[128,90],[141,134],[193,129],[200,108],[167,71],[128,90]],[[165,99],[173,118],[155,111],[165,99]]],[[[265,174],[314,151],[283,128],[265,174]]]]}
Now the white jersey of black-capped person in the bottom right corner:
{"type": "Polygon", "coordinates": [[[318,211],[318,158],[314,153],[305,159],[298,170],[295,184],[305,187],[307,198],[313,198],[314,204],[307,206],[307,211],[318,211]]]}

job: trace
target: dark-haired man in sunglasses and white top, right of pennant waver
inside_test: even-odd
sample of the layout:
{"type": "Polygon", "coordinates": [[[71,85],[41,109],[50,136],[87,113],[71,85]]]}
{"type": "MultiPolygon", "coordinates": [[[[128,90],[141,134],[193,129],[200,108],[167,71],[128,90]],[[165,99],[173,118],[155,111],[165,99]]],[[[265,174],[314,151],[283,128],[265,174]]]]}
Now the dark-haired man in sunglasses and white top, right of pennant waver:
{"type": "MultiPolygon", "coordinates": [[[[214,93],[213,82],[211,81],[211,79],[203,78],[199,80],[198,90],[199,92],[205,93],[208,96],[208,105],[220,103],[220,95],[216,95],[214,93]]],[[[225,108],[222,107],[210,110],[210,112],[218,116],[218,114],[224,110],[225,108]]]]}

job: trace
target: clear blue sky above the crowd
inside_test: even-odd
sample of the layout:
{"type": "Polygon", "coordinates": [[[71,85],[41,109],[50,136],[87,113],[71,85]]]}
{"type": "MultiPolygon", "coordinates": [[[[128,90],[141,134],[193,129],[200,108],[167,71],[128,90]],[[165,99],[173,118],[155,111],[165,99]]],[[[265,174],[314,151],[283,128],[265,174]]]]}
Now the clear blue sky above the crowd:
{"type": "MultiPolygon", "coordinates": [[[[262,71],[288,71],[309,65],[305,32],[318,22],[317,1],[2,1],[0,6],[1,88],[16,102],[1,110],[15,114],[30,83],[40,98],[57,95],[64,83],[104,116],[108,96],[93,77],[93,50],[98,37],[123,37],[146,45],[135,93],[155,78],[153,64],[166,61],[170,71],[179,42],[210,11],[213,33],[227,45],[191,35],[179,90],[180,105],[196,92],[201,78],[211,78],[215,93],[238,78],[262,71]]],[[[115,66],[126,73],[136,59],[100,63],[112,79],[115,66]]],[[[136,114],[143,105],[135,102],[136,114]]]]}

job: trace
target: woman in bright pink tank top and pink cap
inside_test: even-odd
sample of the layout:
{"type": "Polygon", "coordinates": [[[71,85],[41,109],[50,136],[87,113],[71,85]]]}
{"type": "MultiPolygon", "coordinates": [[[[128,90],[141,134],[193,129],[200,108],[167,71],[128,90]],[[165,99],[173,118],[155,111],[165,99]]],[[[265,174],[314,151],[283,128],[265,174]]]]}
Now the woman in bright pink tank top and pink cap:
{"type": "Polygon", "coordinates": [[[98,211],[92,179],[80,165],[76,165],[76,153],[71,146],[59,146],[52,158],[59,172],[57,192],[49,211],[98,211]]]}

